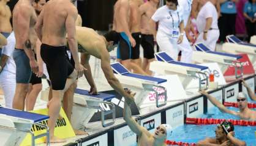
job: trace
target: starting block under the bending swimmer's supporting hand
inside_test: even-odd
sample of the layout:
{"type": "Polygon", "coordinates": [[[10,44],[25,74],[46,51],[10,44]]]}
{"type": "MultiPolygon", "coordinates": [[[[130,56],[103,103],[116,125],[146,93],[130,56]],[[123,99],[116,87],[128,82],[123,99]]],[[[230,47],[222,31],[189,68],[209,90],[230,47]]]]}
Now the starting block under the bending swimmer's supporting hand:
{"type": "Polygon", "coordinates": [[[113,125],[116,120],[116,111],[114,103],[108,102],[115,96],[111,94],[105,94],[99,92],[97,95],[90,95],[88,91],[84,89],[76,89],[73,97],[73,110],[71,123],[75,129],[86,127],[91,117],[97,110],[101,111],[102,126],[107,127],[113,125]],[[110,110],[105,111],[100,105],[105,104],[110,107],[110,110]],[[105,116],[112,114],[111,122],[106,122],[105,116]]]}

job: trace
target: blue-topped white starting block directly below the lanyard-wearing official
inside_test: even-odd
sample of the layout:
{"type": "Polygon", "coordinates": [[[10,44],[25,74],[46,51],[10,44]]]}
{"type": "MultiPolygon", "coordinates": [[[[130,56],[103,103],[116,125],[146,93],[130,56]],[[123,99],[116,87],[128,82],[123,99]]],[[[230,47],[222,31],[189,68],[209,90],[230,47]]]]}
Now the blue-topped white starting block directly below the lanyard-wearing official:
{"type": "Polygon", "coordinates": [[[201,72],[208,69],[208,67],[174,61],[173,58],[171,58],[165,52],[158,52],[155,54],[155,57],[157,61],[152,61],[149,66],[151,71],[163,75],[177,74],[179,80],[181,80],[181,83],[183,84],[184,89],[187,88],[187,85],[189,85],[193,78],[199,79],[199,90],[202,89],[201,85],[205,84],[205,82],[205,88],[208,88],[208,77],[205,73],[201,72]]]}

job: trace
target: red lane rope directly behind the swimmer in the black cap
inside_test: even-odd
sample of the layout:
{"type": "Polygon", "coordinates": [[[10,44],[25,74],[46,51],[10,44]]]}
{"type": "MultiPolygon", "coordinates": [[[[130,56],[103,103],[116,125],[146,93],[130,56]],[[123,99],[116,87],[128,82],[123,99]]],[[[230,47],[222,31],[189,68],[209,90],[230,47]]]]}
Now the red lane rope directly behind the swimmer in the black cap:
{"type": "Polygon", "coordinates": [[[233,119],[213,119],[213,118],[186,118],[186,124],[192,125],[209,125],[209,124],[217,124],[227,120],[228,122],[232,122],[233,125],[240,126],[256,126],[256,121],[250,120],[233,120],[233,119]]]}

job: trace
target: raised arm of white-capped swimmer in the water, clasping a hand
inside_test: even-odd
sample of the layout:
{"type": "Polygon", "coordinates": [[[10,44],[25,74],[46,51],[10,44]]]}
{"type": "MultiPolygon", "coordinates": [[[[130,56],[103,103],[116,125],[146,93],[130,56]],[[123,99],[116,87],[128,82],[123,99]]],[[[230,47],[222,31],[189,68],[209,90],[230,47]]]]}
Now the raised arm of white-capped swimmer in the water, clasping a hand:
{"type": "Polygon", "coordinates": [[[124,102],[124,120],[126,120],[130,130],[136,133],[138,137],[140,137],[142,133],[145,133],[148,136],[151,135],[148,130],[138,125],[138,123],[132,118],[132,111],[130,111],[130,106],[127,104],[126,100],[124,102]]]}

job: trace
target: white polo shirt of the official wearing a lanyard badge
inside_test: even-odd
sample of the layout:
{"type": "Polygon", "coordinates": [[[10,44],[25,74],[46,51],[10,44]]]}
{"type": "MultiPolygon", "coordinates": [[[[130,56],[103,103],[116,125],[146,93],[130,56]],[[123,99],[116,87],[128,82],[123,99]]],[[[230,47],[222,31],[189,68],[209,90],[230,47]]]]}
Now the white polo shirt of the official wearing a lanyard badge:
{"type": "Polygon", "coordinates": [[[151,19],[159,22],[158,31],[171,35],[173,30],[179,32],[179,23],[183,21],[183,9],[177,5],[176,10],[170,10],[164,5],[156,10],[151,19]]]}

